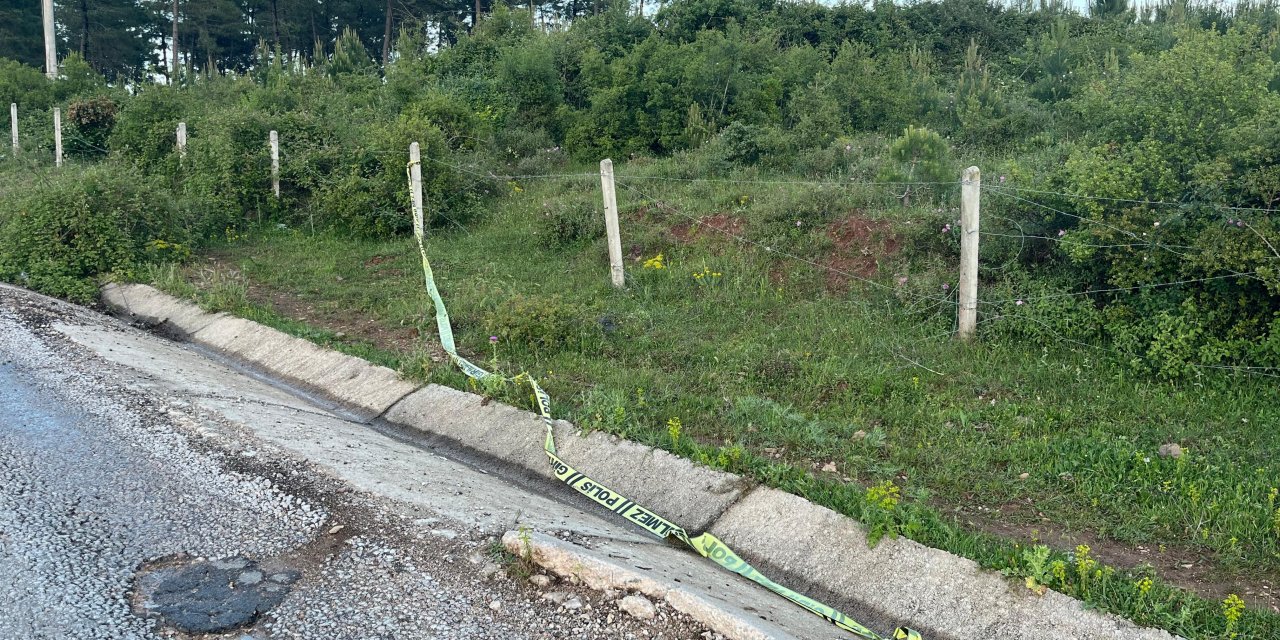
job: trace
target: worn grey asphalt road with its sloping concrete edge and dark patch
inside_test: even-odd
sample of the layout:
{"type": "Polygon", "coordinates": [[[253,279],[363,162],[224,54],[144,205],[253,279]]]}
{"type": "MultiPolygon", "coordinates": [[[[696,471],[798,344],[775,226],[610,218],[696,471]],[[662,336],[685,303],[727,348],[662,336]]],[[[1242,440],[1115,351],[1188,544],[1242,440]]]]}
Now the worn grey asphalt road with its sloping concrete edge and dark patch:
{"type": "Polygon", "coordinates": [[[494,543],[530,513],[566,538],[625,538],[0,287],[0,639],[717,637],[663,602],[639,620],[620,593],[531,586],[494,543]]]}

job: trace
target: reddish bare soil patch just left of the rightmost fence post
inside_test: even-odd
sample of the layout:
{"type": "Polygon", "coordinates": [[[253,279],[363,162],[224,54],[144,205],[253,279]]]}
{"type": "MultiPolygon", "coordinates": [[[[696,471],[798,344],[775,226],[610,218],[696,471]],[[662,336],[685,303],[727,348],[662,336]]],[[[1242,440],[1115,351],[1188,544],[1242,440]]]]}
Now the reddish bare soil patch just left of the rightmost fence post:
{"type": "Polygon", "coordinates": [[[827,225],[831,252],[820,260],[827,269],[827,289],[849,291],[850,280],[872,278],[881,261],[897,253],[901,241],[887,220],[873,220],[852,211],[827,225]]]}

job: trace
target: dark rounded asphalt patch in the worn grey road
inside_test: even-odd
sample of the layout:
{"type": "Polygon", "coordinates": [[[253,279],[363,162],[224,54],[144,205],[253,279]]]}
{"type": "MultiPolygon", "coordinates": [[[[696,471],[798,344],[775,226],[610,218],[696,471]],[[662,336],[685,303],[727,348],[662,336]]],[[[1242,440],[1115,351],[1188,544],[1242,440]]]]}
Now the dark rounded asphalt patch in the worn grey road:
{"type": "Polygon", "coordinates": [[[244,557],[169,562],[137,579],[141,613],[186,634],[244,628],[280,603],[301,575],[244,557]]]}

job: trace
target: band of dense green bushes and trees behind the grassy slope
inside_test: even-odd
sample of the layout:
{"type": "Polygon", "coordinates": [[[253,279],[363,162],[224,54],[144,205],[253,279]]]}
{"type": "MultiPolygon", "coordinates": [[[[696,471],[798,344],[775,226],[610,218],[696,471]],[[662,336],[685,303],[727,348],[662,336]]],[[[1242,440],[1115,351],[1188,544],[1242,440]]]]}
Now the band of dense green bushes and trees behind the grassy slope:
{"type": "MultiPolygon", "coordinates": [[[[169,202],[165,218],[124,216],[151,223],[111,232],[136,251],[99,261],[37,260],[44,243],[63,241],[38,216],[10,218],[5,233],[29,237],[0,250],[3,278],[29,283],[45,269],[61,283],[52,289],[84,292],[76,283],[150,260],[157,246],[189,247],[259,220],[403,233],[403,150],[413,140],[436,163],[428,193],[453,225],[508,189],[498,173],[605,156],[680,155],[675,166],[698,178],[913,183],[955,182],[963,160],[982,165],[988,210],[1004,220],[989,224],[1010,236],[984,241],[984,265],[1000,266],[989,278],[1020,292],[984,312],[1033,316],[1019,325],[1033,334],[1110,339],[1167,376],[1280,366],[1274,0],[1143,10],[1100,0],[1084,13],[983,0],[481,4],[474,28],[474,4],[396,3],[387,55],[380,3],[216,0],[180,5],[189,64],[172,84],[143,79],[157,77],[148,56],[169,5],[76,6],[116,5],[150,17],[118,22],[141,52],[97,45],[81,55],[67,18],[74,6],[60,5],[60,79],[24,64],[38,54],[24,45],[0,61],[0,102],[22,104],[32,148],[50,146],[47,111],[61,105],[69,150],[96,164],[100,188],[150,193],[169,202]],[[219,6],[218,29],[196,15],[219,6]],[[179,120],[192,136],[186,160],[174,151],[179,120]],[[270,129],[284,141],[279,201],[264,188],[270,129]],[[899,140],[867,157],[879,137],[899,140]]],[[[93,179],[0,197],[63,215],[47,202],[93,179]]],[[[901,205],[950,229],[952,192],[909,186],[901,205]]],[[[946,256],[955,242],[933,233],[911,246],[946,256]]]]}

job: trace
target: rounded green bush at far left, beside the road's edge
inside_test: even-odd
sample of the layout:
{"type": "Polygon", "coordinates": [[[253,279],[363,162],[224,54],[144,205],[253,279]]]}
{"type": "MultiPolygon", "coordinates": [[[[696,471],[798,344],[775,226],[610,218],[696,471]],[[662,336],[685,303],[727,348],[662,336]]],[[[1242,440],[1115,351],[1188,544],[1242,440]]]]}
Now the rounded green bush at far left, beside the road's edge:
{"type": "Polygon", "coordinates": [[[0,202],[0,279],[73,301],[97,294],[95,279],[128,276],[146,261],[186,251],[173,198],[142,173],[101,165],[55,174],[0,202]]]}

